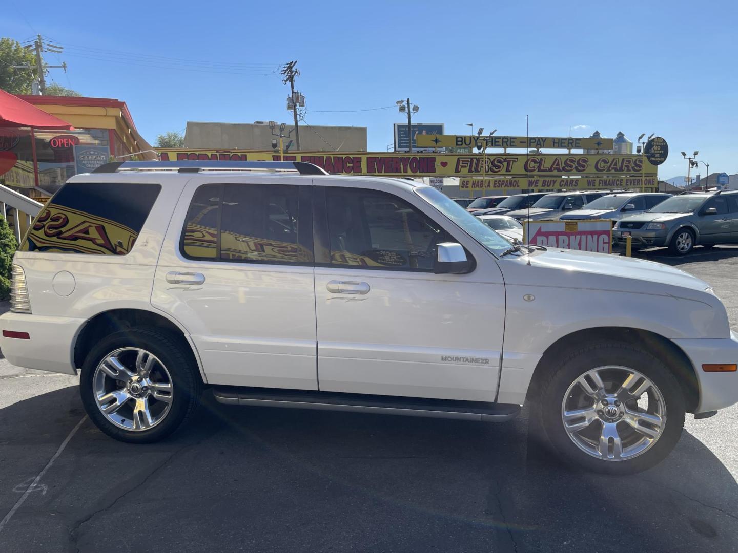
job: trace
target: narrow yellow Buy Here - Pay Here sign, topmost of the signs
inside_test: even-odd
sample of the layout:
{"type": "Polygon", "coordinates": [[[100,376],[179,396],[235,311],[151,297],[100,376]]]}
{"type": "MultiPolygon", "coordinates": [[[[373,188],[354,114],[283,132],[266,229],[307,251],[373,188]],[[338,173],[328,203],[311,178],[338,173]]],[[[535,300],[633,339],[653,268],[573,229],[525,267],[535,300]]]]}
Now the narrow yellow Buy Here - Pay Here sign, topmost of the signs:
{"type": "Polygon", "coordinates": [[[487,148],[548,148],[554,150],[612,150],[613,139],[573,138],[554,136],[473,136],[456,134],[418,134],[418,147],[487,147],[487,148]]]}

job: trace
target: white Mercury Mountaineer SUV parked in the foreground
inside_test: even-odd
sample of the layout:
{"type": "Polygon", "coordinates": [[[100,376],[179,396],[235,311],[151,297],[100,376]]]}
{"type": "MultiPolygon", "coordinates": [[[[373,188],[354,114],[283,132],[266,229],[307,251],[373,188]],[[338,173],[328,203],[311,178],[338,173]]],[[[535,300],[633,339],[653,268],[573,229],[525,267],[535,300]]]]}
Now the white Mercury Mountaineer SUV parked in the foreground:
{"type": "Polygon", "coordinates": [[[0,318],[11,363],[75,375],[111,437],[222,403],[501,421],[630,473],[738,400],[738,336],[658,263],[511,246],[441,192],[310,164],[126,162],[36,218],[0,318]],[[592,305],[597,309],[593,310],[592,305]]]}

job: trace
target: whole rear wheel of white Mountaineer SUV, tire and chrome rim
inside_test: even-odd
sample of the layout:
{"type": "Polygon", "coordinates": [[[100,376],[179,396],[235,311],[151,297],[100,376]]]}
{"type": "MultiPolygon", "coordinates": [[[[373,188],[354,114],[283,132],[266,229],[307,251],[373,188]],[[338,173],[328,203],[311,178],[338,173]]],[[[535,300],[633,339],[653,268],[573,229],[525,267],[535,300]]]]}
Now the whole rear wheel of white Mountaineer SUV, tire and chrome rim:
{"type": "Polygon", "coordinates": [[[87,355],[80,394],[90,419],[123,442],[156,442],[193,413],[198,368],[176,338],[132,328],[103,338],[87,355]]]}

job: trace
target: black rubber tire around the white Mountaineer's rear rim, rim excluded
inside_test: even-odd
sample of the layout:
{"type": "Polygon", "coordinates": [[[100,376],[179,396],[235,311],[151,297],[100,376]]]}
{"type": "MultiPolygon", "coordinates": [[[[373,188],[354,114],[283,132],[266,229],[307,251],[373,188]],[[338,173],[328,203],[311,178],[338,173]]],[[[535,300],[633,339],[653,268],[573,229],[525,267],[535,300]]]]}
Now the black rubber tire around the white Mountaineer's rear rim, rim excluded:
{"type": "MultiPolygon", "coordinates": [[[[148,327],[131,328],[103,338],[86,355],[80,375],[82,403],[92,422],[109,437],[121,442],[151,443],[163,439],[193,417],[198,406],[202,380],[193,354],[178,337],[148,327]],[[168,411],[151,428],[127,430],[115,425],[97,406],[94,373],[100,362],[117,349],[135,347],[153,354],[166,367],[172,392],[168,411]]],[[[134,400],[135,403],[135,400],[134,400]]],[[[156,403],[156,402],[154,402],[156,403]]]]}

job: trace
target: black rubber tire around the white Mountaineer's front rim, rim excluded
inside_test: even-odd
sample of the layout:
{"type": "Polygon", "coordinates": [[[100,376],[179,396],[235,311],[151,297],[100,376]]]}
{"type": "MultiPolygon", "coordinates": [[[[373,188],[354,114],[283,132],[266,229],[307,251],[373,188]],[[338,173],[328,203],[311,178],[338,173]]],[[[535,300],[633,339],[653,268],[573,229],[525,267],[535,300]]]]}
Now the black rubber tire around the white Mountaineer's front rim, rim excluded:
{"type": "MultiPolygon", "coordinates": [[[[539,425],[554,452],[564,462],[598,473],[624,475],[638,473],[661,462],[675,447],[684,425],[685,400],[682,389],[669,368],[649,352],[627,344],[599,343],[562,356],[536,383],[538,397],[534,405],[539,425]],[[641,372],[658,388],[666,403],[666,422],[661,435],[643,453],[626,459],[596,458],[583,451],[565,430],[562,403],[569,386],[590,369],[601,366],[624,366],[641,372]]],[[[596,405],[596,403],[595,403],[596,405]]],[[[600,422],[593,422],[599,425],[600,422]]],[[[626,422],[618,422],[618,428],[626,422]]],[[[593,427],[598,431],[602,426],[593,427]]],[[[620,431],[618,431],[619,433],[620,431]]],[[[638,434],[635,434],[638,437],[638,434]]]]}

